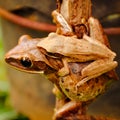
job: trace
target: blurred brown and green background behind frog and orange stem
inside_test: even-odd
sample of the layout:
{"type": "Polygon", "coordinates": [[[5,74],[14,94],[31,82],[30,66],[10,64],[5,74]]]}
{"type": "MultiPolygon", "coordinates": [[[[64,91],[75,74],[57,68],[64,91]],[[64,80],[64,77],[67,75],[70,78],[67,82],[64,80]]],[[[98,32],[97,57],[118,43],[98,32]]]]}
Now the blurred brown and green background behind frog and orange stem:
{"type": "MultiPolygon", "coordinates": [[[[119,0],[92,0],[92,3],[93,16],[99,18],[104,28],[120,27],[119,0]]],[[[0,1],[0,8],[33,21],[51,24],[51,12],[56,8],[56,1],[4,0],[0,1]]],[[[48,33],[0,18],[0,120],[51,120],[55,104],[51,82],[41,75],[14,70],[4,61],[4,54],[17,44],[21,35],[40,38],[48,33]]],[[[120,63],[120,35],[108,35],[108,38],[120,63]]],[[[119,75],[120,66],[116,71],[119,75]]],[[[120,81],[115,81],[104,95],[97,98],[88,112],[120,119],[120,81]]]]}

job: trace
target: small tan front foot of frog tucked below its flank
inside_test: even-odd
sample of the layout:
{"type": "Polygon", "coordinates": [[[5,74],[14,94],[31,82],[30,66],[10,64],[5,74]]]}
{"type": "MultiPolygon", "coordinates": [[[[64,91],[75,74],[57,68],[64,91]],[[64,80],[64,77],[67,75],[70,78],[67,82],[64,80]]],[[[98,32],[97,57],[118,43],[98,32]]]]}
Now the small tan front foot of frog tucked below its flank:
{"type": "Polygon", "coordinates": [[[61,77],[69,74],[67,58],[63,58],[62,61],[63,61],[64,67],[58,71],[58,76],[61,76],[61,77]]]}

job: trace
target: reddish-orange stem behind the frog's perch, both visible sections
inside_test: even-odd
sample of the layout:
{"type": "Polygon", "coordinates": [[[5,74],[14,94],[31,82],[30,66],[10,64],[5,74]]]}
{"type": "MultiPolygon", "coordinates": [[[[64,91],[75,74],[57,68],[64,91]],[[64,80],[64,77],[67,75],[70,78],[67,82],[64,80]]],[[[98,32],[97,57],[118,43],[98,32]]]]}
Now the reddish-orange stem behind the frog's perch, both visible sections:
{"type": "MultiPolygon", "coordinates": [[[[0,8],[0,16],[2,16],[3,18],[5,18],[15,24],[18,24],[18,25],[21,25],[21,26],[24,26],[24,27],[27,27],[30,29],[47,31],[47,32],[56,31],[55,25],[32,21],[27,18],[23,18],[21,16],[18,16],[11,12],[8,12],[7,10],[4,10],[3,8],[0,8]]],[[[104,31],[108,35],[118,35],[118,34],[120,34],[120,27],[104,28],[104,31]]]]}

